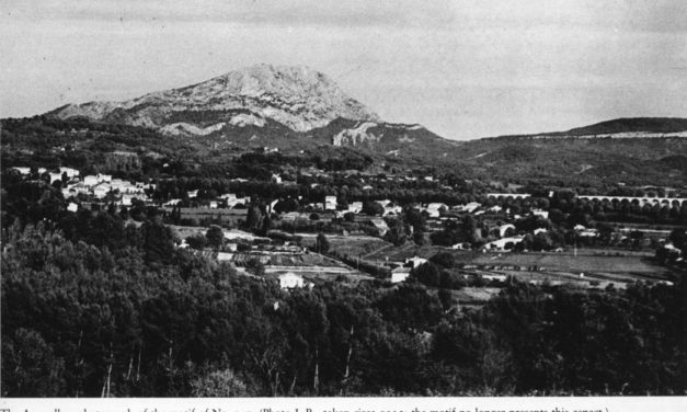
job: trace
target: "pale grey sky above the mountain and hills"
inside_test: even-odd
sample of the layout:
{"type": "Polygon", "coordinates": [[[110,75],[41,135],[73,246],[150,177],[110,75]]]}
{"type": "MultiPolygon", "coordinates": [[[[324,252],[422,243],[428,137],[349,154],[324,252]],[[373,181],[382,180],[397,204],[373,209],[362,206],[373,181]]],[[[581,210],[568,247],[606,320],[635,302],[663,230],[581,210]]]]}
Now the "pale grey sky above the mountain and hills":
{"type": "Polygon", "coordinates": [[[451,139],[687,117],[687,1],[0,0],[0,117],[306,65],[451,139]]]}

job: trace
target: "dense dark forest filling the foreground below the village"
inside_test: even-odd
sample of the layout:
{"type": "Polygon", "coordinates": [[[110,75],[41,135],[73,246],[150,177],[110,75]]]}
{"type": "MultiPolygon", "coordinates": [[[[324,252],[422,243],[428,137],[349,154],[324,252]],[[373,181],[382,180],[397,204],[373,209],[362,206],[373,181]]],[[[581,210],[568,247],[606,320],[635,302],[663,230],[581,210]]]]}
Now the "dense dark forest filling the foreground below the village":
{"type": "Polygon", "coordinates": [[[144,244],[160,233],[139,230],[139,244],[111,250],[43,225],[3,229],[3,396],[687,389],[685,283],[581,293],[516,282],[456,312],[420,284],[283,291],[193,253],[157,259],[144,244]]]}

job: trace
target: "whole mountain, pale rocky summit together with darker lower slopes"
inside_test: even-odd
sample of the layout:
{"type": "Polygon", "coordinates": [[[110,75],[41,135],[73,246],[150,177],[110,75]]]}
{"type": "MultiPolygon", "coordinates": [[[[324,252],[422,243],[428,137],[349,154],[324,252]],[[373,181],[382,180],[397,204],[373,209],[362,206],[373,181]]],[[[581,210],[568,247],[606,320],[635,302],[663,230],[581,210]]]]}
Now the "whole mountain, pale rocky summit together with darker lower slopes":
{"type": "Polygon", "coordinates": [[[124,102],[59,107],[50,116],[145,126],[214,147],[356,147],[380,154],[447,156],[455,142],[420,125],[382,122],[325,75],[304,66],[257,65],[202,83],[124,102]]]}

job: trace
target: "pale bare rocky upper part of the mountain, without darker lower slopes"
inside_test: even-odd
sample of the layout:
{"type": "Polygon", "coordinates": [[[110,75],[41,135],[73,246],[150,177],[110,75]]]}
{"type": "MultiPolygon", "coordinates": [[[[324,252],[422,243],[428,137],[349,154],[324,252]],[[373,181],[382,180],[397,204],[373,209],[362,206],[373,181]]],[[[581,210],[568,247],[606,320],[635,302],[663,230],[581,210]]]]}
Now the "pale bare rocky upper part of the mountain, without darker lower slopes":
{"type": "MultiPolygon", "coordinates": [[[[154,92],[125,102],[68,105],[53,113],[68,118],[179,130],[220,130],[226,124],[263,125],[272,119],[296,130],[322,127],[335,118],[379,121],[374,112],[346,95],[325,75],[306,66],[260,64],[207,81],[154,92]],[[181,127],[181,128],[180,128],[181,127]]],[[[188,133],[193,134],[193,133],[188,133]]]]}

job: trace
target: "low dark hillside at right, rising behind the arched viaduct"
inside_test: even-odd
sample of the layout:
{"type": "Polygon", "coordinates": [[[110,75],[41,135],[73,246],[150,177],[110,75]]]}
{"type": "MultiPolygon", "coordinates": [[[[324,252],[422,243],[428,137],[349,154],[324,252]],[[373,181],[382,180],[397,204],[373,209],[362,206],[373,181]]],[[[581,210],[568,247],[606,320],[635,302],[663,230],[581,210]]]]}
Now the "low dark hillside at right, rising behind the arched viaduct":
{"type": "Polygon", "coordinates": [[[456,161],[483,179],[685,185],[686,156],[687,119],[637,117],[470,140],[456,161]]]}

